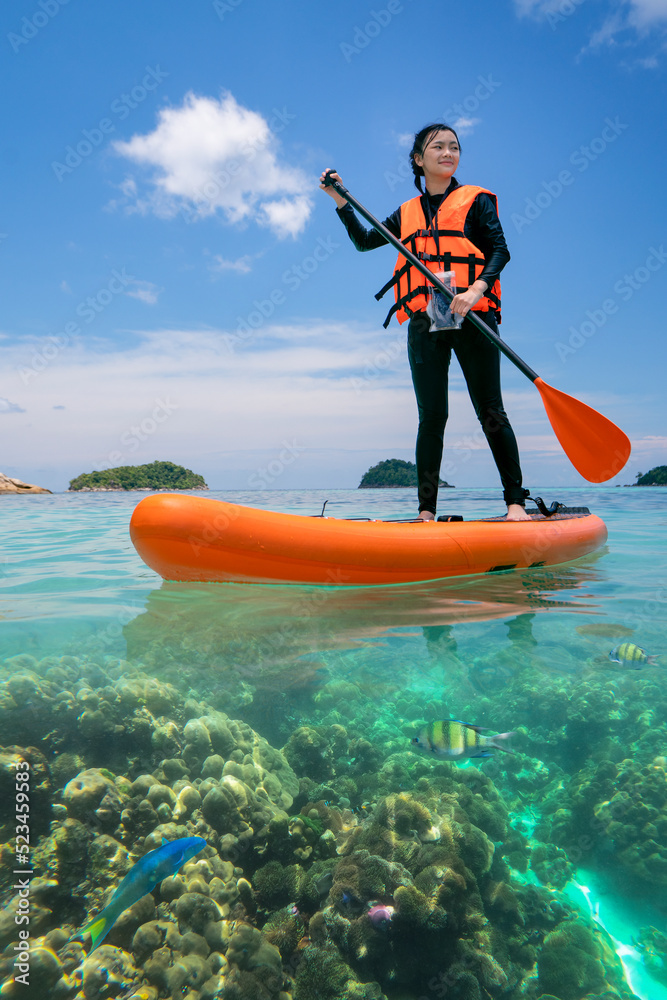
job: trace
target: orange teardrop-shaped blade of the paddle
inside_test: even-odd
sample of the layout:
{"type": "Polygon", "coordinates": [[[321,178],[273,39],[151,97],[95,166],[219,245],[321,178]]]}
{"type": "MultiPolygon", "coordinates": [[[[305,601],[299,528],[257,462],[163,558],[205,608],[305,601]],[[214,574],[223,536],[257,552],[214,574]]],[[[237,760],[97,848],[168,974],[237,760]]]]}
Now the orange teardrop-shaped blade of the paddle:
{"type": "Polygon", "coordinates": [[[630,458],[631,449],[621,428],[541,378],[536,378],[534,384],[554,434],[577,472],[589,483],[606,483],[617,475],[630,458]]]}

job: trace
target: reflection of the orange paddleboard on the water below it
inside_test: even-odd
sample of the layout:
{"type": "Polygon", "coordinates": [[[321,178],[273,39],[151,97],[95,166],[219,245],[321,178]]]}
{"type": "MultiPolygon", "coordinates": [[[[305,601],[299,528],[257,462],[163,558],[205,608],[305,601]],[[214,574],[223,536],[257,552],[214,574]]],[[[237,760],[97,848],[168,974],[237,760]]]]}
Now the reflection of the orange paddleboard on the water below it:
{"type": "Polygon", "coordinates": [[[220,708],[280,741],[330,697],[386,701],[409,684],[459,701],[502,688],[521,664],[558,669],[559,657],[534,655],[533,621],[594,611],[599,559],[372,588],[163,583],[123,629],[127,659],[187,677],[200,697],[217,692],[220,708]],[[455,633],[474,625],[473,656],[455,633]]]}

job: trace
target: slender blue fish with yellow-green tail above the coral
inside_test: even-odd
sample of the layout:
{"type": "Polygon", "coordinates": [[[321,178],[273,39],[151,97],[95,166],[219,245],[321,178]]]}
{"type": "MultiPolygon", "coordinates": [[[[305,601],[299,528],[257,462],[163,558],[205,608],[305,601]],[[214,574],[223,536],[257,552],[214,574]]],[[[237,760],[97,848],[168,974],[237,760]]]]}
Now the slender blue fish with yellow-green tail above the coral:
{"type": "Polygon", "coordinates": [[[144,854],[129,870],[109,904],[80,932],[92,937],[93,945],[88,954],[91,955],[102,943],[123,910],[151,892],[158,882],[175,875],[181,865],[205,847],[203,837],[181,837],[179,840],[165,840],[161,847],[144,854]]]}

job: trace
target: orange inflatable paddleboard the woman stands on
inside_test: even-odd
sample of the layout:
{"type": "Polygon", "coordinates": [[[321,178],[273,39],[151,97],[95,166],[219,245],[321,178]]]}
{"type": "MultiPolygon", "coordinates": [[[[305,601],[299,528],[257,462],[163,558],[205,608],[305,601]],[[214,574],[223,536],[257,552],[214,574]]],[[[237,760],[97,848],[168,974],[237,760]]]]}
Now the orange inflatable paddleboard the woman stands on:
{"type": "Polygon", "coordinates": [[[160,493],[137,504],[134,546],[165,580],[377,586],[570,562],[604,545],[587,508],[530,521],[344,520],[160,493]]]}

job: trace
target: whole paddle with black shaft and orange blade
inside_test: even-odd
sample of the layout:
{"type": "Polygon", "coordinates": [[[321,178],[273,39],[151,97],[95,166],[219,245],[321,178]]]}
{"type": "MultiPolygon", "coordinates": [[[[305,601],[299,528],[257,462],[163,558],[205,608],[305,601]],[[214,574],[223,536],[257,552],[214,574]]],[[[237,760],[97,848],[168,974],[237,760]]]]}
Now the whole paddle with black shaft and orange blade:
{"type": "MultiPolygon", "coordinates": [[[[402,253],[451,302],[453,295],[446,285],[443,285],[426,264],[415,257],[393,233],[390,233],[386,226],[383,226],[372,216],[340,181],[332,180],[331,173],[332,171],[327,171],[324,183],[333,187],[334,191],[347,199],[357,212],[371,224],[373,229],[376,229],[389,243],[395,246],[398,252],[402,253]]],[[[542,397],[542,403],[554,433],[577,472],[589,483],[604,483],[619,473],[630,457],[631,447],[628,437],[620,427],[603,417],[591,406],[587,406],[586,403],[582,403],[573,396],[568,396],[567,393],[561,392],[560,389],[554,389],[553,386],[544,382],[537,372],[534,372],[525,361],[521,360],[518,354],[514,353],[511,347],[508,347],[500,339],[495,330],[487,326],[480,318],[479,313],[470,310],[468,318],[536,387],[542,397]]]]}

